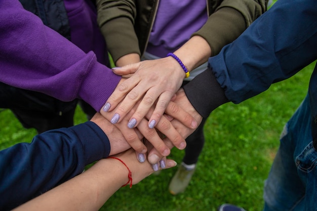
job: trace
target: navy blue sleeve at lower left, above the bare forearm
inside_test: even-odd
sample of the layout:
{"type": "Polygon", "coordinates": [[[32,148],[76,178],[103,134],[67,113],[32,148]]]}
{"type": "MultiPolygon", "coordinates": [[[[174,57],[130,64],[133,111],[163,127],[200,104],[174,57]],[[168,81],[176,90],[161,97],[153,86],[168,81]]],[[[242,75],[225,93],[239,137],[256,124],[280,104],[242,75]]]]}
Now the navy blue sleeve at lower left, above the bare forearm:
{"type": "Polygon", "coordinates": [[[0,210],[10,210],[81,174],[87,164],[109,152],[107,136],[91,121],[0,151],[0,210]]]}

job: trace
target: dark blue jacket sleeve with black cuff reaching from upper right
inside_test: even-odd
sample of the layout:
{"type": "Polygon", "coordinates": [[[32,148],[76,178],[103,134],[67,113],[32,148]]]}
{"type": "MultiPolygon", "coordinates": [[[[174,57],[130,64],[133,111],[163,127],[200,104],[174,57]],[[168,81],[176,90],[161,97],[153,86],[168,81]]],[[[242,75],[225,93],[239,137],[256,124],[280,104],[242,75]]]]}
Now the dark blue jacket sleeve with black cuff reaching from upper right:
{"type": "Polygon", "coordinates": [[[186,95],[206,116],[226,102],[223,95],[219,98],[219,86],[227,101],[240,103],[316,60],[316,49],[317,1],[279,0],[239,38],[209,59],[210,69],[201,80],[191,81],[195,88],[185,88],[186,95]],[[201,82],[206,77],[209,83],[201,82]]]}

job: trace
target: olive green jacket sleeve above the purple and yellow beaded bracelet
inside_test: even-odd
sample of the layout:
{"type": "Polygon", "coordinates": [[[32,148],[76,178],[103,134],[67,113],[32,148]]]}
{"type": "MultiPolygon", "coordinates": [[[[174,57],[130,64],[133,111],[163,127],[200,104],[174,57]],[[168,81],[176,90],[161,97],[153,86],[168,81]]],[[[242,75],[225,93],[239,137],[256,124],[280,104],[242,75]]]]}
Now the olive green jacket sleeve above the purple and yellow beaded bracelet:
{"type": "MultiPolygon", "coordinates": [[[[217,55],[267,9],[267,0],[223,0],[205,25],[193,35],[204,37],[217,55]]],[[[212,10],[211,8],[210,10],[212,10]]]]}

